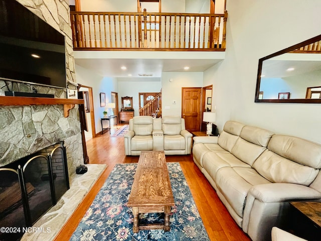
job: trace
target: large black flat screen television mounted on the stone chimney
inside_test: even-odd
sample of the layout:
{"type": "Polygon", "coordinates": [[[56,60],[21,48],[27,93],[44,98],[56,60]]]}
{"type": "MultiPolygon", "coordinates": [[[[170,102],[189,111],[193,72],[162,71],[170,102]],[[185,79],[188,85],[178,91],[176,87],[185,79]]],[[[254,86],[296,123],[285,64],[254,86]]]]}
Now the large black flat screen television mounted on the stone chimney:
{"type": "Polygon", "coordinates": [[[65,36],[16,0],[0,0],[0,79],[66,88],[65,36]]]}

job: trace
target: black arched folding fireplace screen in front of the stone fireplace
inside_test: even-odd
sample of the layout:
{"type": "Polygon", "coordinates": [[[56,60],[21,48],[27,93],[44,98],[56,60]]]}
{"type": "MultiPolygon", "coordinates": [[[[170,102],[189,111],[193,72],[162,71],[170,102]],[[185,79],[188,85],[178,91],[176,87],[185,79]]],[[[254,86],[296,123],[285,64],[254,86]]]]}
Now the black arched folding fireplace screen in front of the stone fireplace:
{"type": "Polygon", "coordinates": [[[63,142],[0,168],[0,240],[19,240],[69,189],[63,142]]]}

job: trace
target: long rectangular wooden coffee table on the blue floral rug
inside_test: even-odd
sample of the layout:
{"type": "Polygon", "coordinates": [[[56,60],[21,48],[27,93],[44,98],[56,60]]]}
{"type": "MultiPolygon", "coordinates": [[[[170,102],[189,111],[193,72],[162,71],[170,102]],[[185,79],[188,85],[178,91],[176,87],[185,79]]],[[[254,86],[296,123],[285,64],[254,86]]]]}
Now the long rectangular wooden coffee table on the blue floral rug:
{"type": "Polygon", "coordinates": [[[170,231],[171,206],[174,205],[164,151],[141,152],[127,204],[134,215],[133,232],[139,229],[170,231]],[[139,213],[155,212],[164,212],[164,223],[139,225],[139,213]]]}

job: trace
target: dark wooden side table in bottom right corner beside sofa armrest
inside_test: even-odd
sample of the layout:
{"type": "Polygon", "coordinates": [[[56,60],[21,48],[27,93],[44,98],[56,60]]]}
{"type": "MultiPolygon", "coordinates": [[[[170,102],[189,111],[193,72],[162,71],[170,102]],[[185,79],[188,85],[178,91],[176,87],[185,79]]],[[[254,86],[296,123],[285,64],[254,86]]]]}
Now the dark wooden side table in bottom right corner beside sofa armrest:
{"type": "Polygon", "coordinates": [[[289,231],[309,241],[320,240],[321,202],[290,202],[289,231]]]}

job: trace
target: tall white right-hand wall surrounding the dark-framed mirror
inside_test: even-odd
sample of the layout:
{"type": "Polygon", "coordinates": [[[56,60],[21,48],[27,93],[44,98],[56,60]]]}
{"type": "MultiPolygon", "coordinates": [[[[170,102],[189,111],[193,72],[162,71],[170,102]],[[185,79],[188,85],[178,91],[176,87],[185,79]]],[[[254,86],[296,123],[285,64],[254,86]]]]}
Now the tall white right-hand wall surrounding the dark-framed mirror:
{"type": "Polygon", "coordinates": [[[319,104],[254,102],[258,59],[319,35],[320,10],[318,0],[227,0],[225,60],[204,74],[213,80],[219,130],[234,119],[321,143],[319,104]]]}

